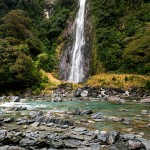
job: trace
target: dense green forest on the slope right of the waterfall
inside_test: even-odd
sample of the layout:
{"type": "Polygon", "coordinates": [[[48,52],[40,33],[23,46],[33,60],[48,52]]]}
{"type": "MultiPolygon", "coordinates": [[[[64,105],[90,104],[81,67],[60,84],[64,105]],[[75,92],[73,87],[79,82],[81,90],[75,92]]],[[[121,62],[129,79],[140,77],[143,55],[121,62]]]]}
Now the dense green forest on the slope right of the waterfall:
{"type": "Polygon", "coordinates": [[[93,74],[150,74],[150,2],[90,0],[93,18],[93,74]],[[97,69],[98,68],[98,69],[97,69]]]}

